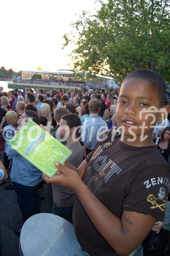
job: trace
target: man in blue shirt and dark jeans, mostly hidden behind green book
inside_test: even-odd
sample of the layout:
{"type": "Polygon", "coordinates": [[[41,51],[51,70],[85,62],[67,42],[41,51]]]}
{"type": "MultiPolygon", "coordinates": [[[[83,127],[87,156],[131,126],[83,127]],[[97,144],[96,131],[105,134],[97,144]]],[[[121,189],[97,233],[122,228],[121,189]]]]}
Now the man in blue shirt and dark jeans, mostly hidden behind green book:
{"type": "MultiPolygon", "coordinates": [[[[39,124],[39,116],[32,110],[26,110],[25,118],[32,118],[39,124]]],[[[22,123],[23,124],[23,123],[22,123]]],[[[41,182],[42,173],[32,163],[19,155],[10,146],[7,148],[7,156],[12,157],[12,169],[10,179],[13,182],[17,196],[17,203],[22,212],[23,223],[34,214],[40,212],[40,197],[38,184],[41,182]]],[[[20,230],[15,230],[17,235],[20,230]]]]}

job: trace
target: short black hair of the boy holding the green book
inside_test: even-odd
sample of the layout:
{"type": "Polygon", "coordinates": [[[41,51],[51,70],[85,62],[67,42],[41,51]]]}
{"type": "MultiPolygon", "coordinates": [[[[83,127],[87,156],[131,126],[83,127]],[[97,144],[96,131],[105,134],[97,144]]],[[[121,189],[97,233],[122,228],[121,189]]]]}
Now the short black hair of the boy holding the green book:
{"type": "Polygon", "coordinates": [[[156,92],[157,97],[160,101],[160,105],[164,105],[166,100],[166,85],[165,81],[159,74],[152,70],[137,69],[128,74],[123,82],[129,78],[140,78],[148,81],[149,86],[152,87],[152,89],[156,92]]]}

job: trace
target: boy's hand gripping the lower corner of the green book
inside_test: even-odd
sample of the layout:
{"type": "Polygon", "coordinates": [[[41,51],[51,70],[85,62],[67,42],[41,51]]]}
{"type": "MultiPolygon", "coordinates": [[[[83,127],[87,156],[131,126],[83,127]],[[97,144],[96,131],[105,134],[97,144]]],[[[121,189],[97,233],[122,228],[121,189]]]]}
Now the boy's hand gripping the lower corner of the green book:
{"type": "Polygon", "coordinates": [[[79,187],[83,184],[83,181],[79,175],[74,170],[67,168],[59,162],[55,162],[55,165],[58,169],[58,172],[55,176],[48,178],[43,174],[43,178],[46,183],[56,183],[58,185],[70,188],[76,192],[76,190],[79,189],[79,187]]]}

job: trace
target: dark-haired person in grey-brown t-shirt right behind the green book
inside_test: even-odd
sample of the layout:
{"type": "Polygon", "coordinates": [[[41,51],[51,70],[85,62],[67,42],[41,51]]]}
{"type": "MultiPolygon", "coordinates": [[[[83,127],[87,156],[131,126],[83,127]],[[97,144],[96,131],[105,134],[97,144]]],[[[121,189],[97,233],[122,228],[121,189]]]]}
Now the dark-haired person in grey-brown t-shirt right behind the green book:
{"type": "MultiPolygon", "coordinates": [[[[59,106],[59,108],[62,108],[62,107],[59,106]]],[[[72,153],[67,160],[70,164],[74,165],[76,168],[79,167],[79,165],[83,161],[82,146],[78,140],[79,129],[77,129],[77,128],[80,128],[80,125],[81,125],[81,121],[78,115],[65,114],[61,117],[60,126],[58,128],[60,137],[65,136],[65,129],[63,129],[63,127],[67,127],[67,129],[70,130],[69,136],[66,138],[66,146],[72,151],[72,153]],[[72,136],[74,133],[75,133],[75,136],[72,136]]],[[[56,214],[72,223],[72,209],[77,199],[74,191],[63,186],[58,186],[57,184],[52,184],[52,189],[53,189],[52,214],[56,214]]]]}

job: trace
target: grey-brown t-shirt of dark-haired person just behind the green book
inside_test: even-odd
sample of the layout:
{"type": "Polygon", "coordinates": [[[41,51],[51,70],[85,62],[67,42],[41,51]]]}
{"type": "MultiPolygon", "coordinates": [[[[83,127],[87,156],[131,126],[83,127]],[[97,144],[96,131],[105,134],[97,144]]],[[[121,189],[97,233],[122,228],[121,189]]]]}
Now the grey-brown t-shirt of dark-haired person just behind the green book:
{"type": "MultiPolygon", "coordinates": [[[[72,154],[69,156],[67,161],[74,165],[76,168],[79,167],[79,165],[83,161],[83,152],[82,152],[82,146],[79,141],[72,143],[68,146],[68,148],[72,151],[72,154]]],[[[53,201],[54,203],[59,207],[69,207],[74,205],[77,196],[69,188],[59,186],[57,184],[52,184],[53,189],[53,201]]]]}

